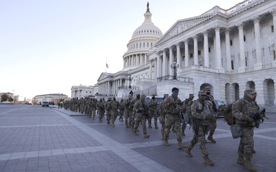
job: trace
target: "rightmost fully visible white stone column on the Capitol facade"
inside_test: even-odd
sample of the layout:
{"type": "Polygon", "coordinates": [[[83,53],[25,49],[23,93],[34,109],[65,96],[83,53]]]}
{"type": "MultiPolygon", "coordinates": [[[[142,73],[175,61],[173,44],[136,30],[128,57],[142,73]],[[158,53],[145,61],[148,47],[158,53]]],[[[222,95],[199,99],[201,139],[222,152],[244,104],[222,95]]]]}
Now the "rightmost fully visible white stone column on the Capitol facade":
{"type": "Polygon", "coordinates": [[[254,70],[262,69],[262,47],[261,47],[261,33],[259,32],[260,17],[253,17],[255,29],[255,43],[256,43],[256,58],[257,63],[254,65],[254,70]]]}

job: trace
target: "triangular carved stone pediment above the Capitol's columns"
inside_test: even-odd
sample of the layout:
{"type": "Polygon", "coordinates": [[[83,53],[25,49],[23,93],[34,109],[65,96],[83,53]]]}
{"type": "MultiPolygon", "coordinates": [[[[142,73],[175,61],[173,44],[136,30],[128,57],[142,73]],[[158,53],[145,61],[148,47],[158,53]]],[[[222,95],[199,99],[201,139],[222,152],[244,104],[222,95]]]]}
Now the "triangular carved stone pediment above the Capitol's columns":
{"type": "Polygon", "coordinates": [[[198,17],[191,17],[188,19],[181,19],[177,21],[160,39],[157,40],[157,44],[171,39],[174,36],[187,32],[197,25],[201,25],[204,21],[214,17],[213,14],[202,15],[198,17]]]}

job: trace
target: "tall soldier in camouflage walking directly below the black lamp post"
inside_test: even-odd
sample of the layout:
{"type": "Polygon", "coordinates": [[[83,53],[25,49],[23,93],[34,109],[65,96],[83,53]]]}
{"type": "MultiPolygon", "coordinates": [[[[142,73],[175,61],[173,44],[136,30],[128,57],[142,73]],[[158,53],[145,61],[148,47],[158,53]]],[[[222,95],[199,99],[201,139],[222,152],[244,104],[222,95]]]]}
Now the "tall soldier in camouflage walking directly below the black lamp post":
{"type": "Polygon", "coordinates": [[[182,149],[184,145],[182,145],[182,138],[180,133],[180,120],[179,120],[179,113],[184,112],[183,107],[181,107],[182,102],[178,98],[179,89],[176,87],[172,88],[172,96],[169,96],[164,100],[164,109],[166,109],[166,116],[165,116],[165,133],[164,133],[164,144],[169,146],[168,143],[168,135],[170,133],[170,128],[172,125],[175,127],[175,133],[177,134],[177,142],[178,142],[178,149],[182,149]]]}

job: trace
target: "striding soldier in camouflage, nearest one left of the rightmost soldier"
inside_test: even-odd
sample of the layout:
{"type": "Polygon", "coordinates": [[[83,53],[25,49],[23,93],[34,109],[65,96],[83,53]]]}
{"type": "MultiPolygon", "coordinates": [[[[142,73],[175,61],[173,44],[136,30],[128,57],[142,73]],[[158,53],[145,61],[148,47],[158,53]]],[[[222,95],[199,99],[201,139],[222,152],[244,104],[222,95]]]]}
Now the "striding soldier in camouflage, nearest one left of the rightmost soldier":
{"type": "Polygon", "coordinates": [[[198,142],[199,149],[204,158],[204,163],[208,165],[213,165],[214,162],[208,158],[208,151],[205,147],[205,134],[208,133],[210,129],[210,120],[212,119],[212,112],[210,111],[209,105],[206,101],[206,92],[204,90],[199,91],[199,98],[193,103],[191,110],[193,116],[193,133],[194,136],[190,140],[187,149],[185,152],[189,157],[193,157],[190,151],[195,147],[195,144],[198,142]]]}

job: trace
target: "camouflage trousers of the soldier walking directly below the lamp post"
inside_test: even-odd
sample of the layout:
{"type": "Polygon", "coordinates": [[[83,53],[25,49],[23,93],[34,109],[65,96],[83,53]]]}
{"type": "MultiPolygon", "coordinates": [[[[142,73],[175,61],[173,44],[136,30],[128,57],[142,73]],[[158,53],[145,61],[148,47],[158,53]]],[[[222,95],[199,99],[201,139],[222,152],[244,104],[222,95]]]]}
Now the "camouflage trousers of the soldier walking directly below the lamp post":
{"type": "Polygon", "coordinates": [[[174,125],[175,133],[177,134],[177,141],[182,141],[181,131],[180,131],[180,121],[178,114],[166,114],[165,116],[165,133],[164,139],[168,139],[170,129],[174,125]]]}

